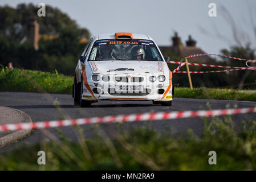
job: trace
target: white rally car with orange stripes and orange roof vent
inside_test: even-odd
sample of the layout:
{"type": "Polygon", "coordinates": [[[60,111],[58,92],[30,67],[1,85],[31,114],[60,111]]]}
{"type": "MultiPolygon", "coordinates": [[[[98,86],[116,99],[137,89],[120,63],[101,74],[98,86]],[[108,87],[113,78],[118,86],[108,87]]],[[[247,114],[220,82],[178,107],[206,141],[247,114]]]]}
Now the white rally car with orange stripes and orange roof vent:
{"type": "Polygon", "coordinates": [[[172,105],[172,72],[151,37],[115,33],[88,42],[75,69],[74,105],[98,100],[152,100],[172,105]]]}

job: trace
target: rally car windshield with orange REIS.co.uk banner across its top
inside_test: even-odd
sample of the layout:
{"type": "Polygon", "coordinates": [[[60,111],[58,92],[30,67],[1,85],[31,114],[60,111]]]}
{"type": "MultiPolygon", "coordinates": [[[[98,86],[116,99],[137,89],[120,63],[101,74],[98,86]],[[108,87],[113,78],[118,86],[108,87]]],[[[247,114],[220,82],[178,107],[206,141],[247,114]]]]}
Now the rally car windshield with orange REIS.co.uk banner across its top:
{"type": "Polygon", "coordinates": [[[160,53],[151,40],[97,40],[91,50],[89,61],[140,60],[162,61],[160,53]]]}

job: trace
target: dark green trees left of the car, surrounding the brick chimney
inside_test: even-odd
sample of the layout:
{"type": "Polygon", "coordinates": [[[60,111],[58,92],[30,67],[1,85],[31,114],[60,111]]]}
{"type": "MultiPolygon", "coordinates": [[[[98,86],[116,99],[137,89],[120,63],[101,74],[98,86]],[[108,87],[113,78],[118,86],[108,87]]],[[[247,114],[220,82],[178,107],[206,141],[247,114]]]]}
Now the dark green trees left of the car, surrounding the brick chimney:
{"type": "Polygon", "coordinates": [[[39,41],[36,51],[29,41],[19,42],[25,36],[26,23],[37,14],[38,7],[19,4],[17,9],[9,6],[0,7],[2,23],[0,26],[0,64],[13,63],[16,68],[36,69],[41,71],[58,70],[66,75],[73,75],[78,57],[86,44],[79,43],[80,38],[89,38],[86,28],[79,28],[76,22],[59,9],[46,6],[46,16],[38,18],[40,34],[56,35],[52,39],[44,36],[39,41]],[[15,23],[19,24],[19,32],[15,23]]]}

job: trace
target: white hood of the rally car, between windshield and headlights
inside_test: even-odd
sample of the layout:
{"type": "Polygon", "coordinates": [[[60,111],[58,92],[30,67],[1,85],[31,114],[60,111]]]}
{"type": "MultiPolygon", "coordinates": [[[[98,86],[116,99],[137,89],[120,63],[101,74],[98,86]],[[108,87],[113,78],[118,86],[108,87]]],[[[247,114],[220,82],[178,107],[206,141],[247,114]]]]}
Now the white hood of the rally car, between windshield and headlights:
{"type": "Polygon", "coordinates": [[[90,61],[93,73],[164,73],[162,61],[90,61]]]}

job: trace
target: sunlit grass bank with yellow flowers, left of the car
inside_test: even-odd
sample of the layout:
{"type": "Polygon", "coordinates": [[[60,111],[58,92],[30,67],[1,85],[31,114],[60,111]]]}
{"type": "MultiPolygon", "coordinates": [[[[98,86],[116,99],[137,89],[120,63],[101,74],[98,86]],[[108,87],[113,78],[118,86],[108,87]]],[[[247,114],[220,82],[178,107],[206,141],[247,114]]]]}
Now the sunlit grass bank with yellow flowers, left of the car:
{"type": "Polygon", "coordinates": [[[58,72],[41,72],[24,69],[2,69],[0,72],[1,92],[72,93],[74,77],[58,72]]]}

